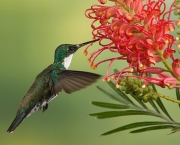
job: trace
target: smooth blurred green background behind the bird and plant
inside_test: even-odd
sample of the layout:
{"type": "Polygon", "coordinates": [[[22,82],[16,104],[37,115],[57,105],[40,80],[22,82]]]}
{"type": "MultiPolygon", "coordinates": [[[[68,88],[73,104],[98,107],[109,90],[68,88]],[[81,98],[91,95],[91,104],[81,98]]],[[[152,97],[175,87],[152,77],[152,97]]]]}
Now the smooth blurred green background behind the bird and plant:
{"type": "MultiPolygon", "coordinates": [[[[84,16],[84,11],[95,3],[97,0],[1,0],[0,145],[179,144],[179,133],[167,136],[169,130],[141,134],[128,134],[125,131],[100,137],[101,133],[121,125],[156,118],[131,116],[97,120],[88,116],[106,110],[92,106],[90,101],[111,102],[97,91],[95,85],[71,95],[62,92],[49,104],[45,113],[33,114],[15,132],[6,133],[36,75],[53,62],[55,48],[62,43],[77,44],[92,39],[91,20],[84,16]]],[[[94,44],[90,50],[98,47],[94,44]]],[[[122,64],[115,65],[123,67],[122,64]]],[[[75,54],[70,69],[104,75],[106,67],[103,64],[96,71],[91,70],[81,49],[75,54]]],[[[98,84],[105,85],[101,80],[98,84]]],[[[175,96],[174,91],[160,91],[175,96]]],[[[178,121],[178,106],[164,102],[172,117],[178,121]]]]}

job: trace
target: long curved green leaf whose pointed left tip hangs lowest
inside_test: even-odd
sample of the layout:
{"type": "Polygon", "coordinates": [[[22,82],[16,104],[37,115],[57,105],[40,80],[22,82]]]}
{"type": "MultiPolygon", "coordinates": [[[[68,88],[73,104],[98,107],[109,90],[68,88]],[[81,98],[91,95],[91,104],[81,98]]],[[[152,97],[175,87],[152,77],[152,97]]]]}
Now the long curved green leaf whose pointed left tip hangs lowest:
{"type": "Polygon", "coordinates": [[[128,125],[124,125],[121,127],[118,127],[116,129],[113,129],[111,131],[105,132],[102,135],[109,135],[112,133],[116,133],[119,131],[124,131],[124,130],[128,130],[128,129],[132,129],[132,128],[137,128],[137,127],[142,127],[142,126],[150,126],[150,125],[159,125],[159,124],[167,124],[167,125],[172,125],[172,123],[168,123],[168,122],[160,122],[160,121],[151,121],[151,122],[136,122],[136,123],[131,123],[128,125]]]}

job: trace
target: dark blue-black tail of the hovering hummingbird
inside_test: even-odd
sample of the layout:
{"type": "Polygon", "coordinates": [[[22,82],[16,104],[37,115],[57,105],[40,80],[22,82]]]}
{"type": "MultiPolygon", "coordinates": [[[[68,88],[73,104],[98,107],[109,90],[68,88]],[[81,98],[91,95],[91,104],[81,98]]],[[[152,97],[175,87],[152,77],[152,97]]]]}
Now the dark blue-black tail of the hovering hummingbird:
{"type": "Polygon", "coordinates": [[[23,119],[26,117],[25,113],[22,113],[20,115],[17,115],[16,118],[11,123],[10,127],[8,128],[7,132],[12,133],[16,127],[23,121],[23,119]]]}

